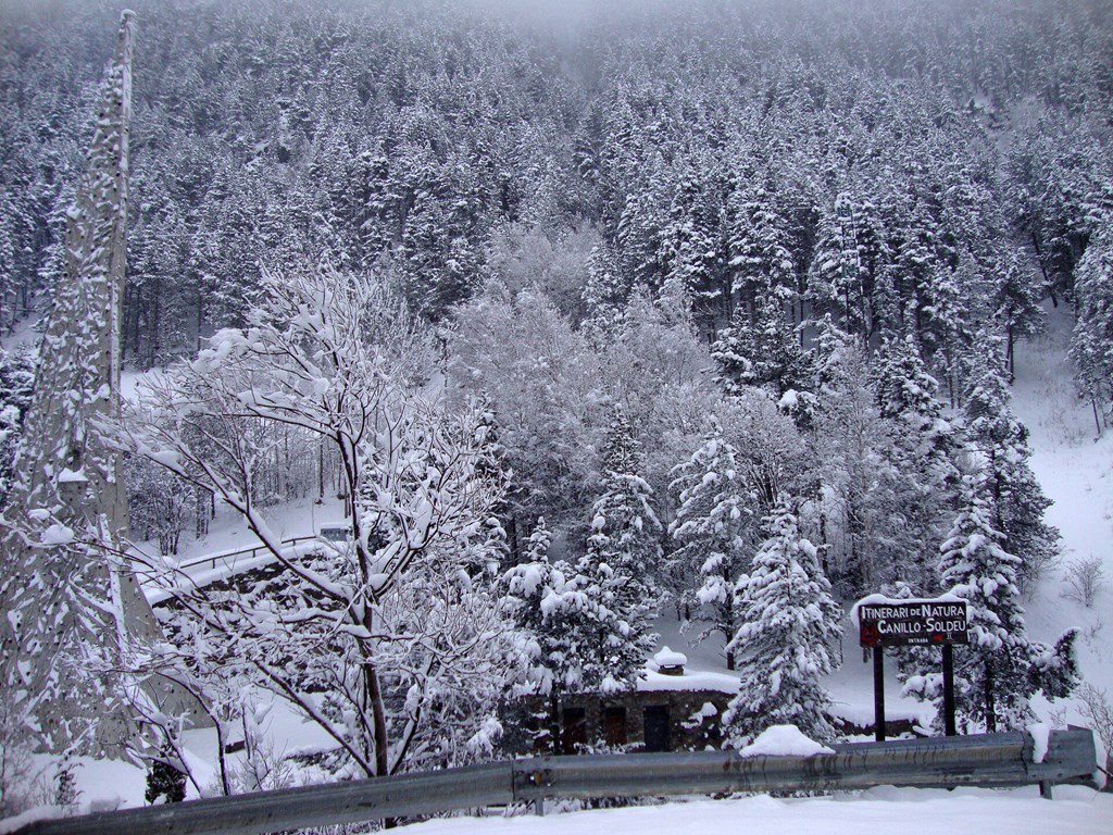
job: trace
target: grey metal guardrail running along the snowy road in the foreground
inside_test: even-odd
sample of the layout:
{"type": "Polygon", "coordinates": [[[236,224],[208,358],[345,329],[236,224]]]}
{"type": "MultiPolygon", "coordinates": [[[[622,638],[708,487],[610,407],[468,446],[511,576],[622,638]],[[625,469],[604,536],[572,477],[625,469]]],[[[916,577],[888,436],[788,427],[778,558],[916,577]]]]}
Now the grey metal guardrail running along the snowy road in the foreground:
{"type": "MultiPolygon", "coordinates": [[[[416,817],[551,797],[652,797],[870,786],[1018,786],[1086,782],[1093,734],[1055,730],[1042,763],[1027,734],[835,746],[811,757],[737,752],[538,757],[442,772],[40,821],[14,835],[255,835],[416,817]]],[[[1047,792],[1050,795],[1050,792],[1047,792]]]]}

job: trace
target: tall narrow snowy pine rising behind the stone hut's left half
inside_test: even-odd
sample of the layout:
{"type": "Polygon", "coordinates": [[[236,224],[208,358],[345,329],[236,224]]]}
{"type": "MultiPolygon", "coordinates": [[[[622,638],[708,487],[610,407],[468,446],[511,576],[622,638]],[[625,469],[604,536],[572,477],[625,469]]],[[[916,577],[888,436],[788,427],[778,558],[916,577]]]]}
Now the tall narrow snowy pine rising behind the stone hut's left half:
{"type": "Polygon", "coordinates": [[[629,687],[657,640],[651,629],[658,592],[649,578],[662,560],[662,528],[639,468],[633,426],[617,412],[608,429],[602,494],[575,567],[577,588],[599,602],[597,641],[583,648],[584,684],[604,691],[629,687]]]}

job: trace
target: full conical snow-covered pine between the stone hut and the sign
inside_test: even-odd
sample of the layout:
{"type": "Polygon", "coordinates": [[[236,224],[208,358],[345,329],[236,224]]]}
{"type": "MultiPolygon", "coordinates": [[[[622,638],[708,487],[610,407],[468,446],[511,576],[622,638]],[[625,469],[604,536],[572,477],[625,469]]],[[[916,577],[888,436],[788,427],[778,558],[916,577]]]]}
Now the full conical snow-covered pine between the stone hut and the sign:
{"type": "Polygon", "coordinates": [[[765,525],[768,538],[754,569],[738,582],[741,626],[731,647],[741,680],[723,715],[725,733],[735,747],[772,725],[830,739],[830,696],[820,678],[838,665],[843,613],[788,497],[779,497],[765,525]]]}

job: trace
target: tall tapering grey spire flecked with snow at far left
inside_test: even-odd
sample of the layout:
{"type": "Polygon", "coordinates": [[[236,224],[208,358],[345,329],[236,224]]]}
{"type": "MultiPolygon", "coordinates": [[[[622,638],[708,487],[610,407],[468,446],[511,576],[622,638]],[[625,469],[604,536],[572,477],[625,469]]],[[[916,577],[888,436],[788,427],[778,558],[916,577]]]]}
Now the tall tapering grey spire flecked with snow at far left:
{"type": "MultiPolygon", "coordinates": [[[[134,38],[134,14],[125,12],[68,213],[65,269],[55,278],[19,477],[0,519],[4,692],[38,720],[42,748],[109,756],[122,754],[135,727],[112,704],[118,676],[90,667],[124,670],[132,639],[161,633],[117,558],[128,534],[127,490],[120,456],[99,430],[120,409],[134,38]]],[[[154,690],[147,698],[160,710],[205,721],[179,688],[154,690]]]]}

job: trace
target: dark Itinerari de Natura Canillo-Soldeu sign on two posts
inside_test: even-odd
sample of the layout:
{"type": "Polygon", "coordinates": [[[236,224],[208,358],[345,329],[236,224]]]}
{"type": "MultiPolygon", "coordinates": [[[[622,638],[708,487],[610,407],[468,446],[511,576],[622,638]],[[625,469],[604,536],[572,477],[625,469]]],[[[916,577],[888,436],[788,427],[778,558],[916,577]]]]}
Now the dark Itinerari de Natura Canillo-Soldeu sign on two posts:
{"type": "Polygon", "coordinates": [[[943,648],[943,724],[955,736],[954,645],[969,641],[966,601],[947,596],[932,600],[894,600],[870,595],[855,603],[860,645],[874,654],[874,738],[885,740],[885,647],[943,648]]]}

